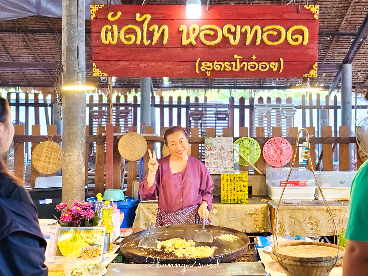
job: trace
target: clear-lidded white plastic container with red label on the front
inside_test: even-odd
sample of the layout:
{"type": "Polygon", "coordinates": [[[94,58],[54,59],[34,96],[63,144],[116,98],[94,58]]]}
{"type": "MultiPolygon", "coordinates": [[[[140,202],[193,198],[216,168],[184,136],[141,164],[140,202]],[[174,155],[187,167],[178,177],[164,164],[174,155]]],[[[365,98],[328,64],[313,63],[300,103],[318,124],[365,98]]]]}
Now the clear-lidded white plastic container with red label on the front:
{"type": "MultiPolygon", "coordinates": [[[[290,168],[267,168],[267,195],[279,200],[290,168]]],[[[313,173],[305,168],[293,168],[282,199],[313,200],[316,184],[313,173]]]]}

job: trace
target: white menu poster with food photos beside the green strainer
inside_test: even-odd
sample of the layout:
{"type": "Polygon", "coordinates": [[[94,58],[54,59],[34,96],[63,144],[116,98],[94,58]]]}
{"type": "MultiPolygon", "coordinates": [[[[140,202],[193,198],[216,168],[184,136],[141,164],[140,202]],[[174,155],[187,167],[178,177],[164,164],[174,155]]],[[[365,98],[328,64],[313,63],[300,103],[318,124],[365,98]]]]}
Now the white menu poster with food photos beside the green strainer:
{"type": "Polygon", "coordinates": [[[210,174],[233,170],[233,137],[205,137],[205,165],[210,174]]]}

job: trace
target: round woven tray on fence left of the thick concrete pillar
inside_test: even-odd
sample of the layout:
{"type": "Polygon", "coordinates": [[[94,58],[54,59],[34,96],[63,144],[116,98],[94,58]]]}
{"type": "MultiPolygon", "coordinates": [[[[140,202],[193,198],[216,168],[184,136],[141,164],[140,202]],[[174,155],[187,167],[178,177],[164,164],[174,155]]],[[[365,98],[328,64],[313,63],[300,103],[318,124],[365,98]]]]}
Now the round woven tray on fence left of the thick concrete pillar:
{"type": "Polygon", "coordinates": [[[61,146],[54,141],[45,141],[33,149],[31,162],[39,173],[53,174],[61,169],[61,157],[61,146]]]}

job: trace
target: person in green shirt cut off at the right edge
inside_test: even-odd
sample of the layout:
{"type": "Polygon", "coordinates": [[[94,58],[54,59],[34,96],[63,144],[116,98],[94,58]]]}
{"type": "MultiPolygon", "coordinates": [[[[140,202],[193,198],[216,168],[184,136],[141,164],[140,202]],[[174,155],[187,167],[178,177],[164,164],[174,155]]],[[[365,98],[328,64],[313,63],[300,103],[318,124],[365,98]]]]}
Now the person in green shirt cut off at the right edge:
{"type": "Polygon", "coordinates": [[[368,275],[368,160],[351,183],[349,219],[344,238],[343,276],[368,275]]]}

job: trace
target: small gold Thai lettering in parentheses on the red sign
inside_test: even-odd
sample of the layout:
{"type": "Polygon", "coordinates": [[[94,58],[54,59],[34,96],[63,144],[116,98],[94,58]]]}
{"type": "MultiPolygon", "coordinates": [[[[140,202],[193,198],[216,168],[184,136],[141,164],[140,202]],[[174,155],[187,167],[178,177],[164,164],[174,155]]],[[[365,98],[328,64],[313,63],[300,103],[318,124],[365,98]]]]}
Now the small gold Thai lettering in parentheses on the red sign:
{"type": "Polygon", "coordinates": [[[268,70],[272,70],[274,72],[278,71],[279,73],[282,72],[284,68],[284,60],[282,58],[279,59],[279,61],[272,61],[272,62],[256,62],[256,61],[244,61],[241,62],[240,59],[243,59],[243,57],[238,56],[237,54],[234,54],[234,59],[236,61],[214,61],[213,63],[210,61],[202,61],[200,63],[201,58],[197,59],[197,62],[195,63],[195,71],[199,73],[198,67],[200,64],[200,71],[204,71],[207,76],[211,74],[212,70],[215,71],[240,71],[241,68],[244,68],[244,71],[261,71],[265,72],[268,70]],[[232,64],[232,67],[230,66],[232,64]],[[280,70],[278,70],[280,68],[280,70]]]}

